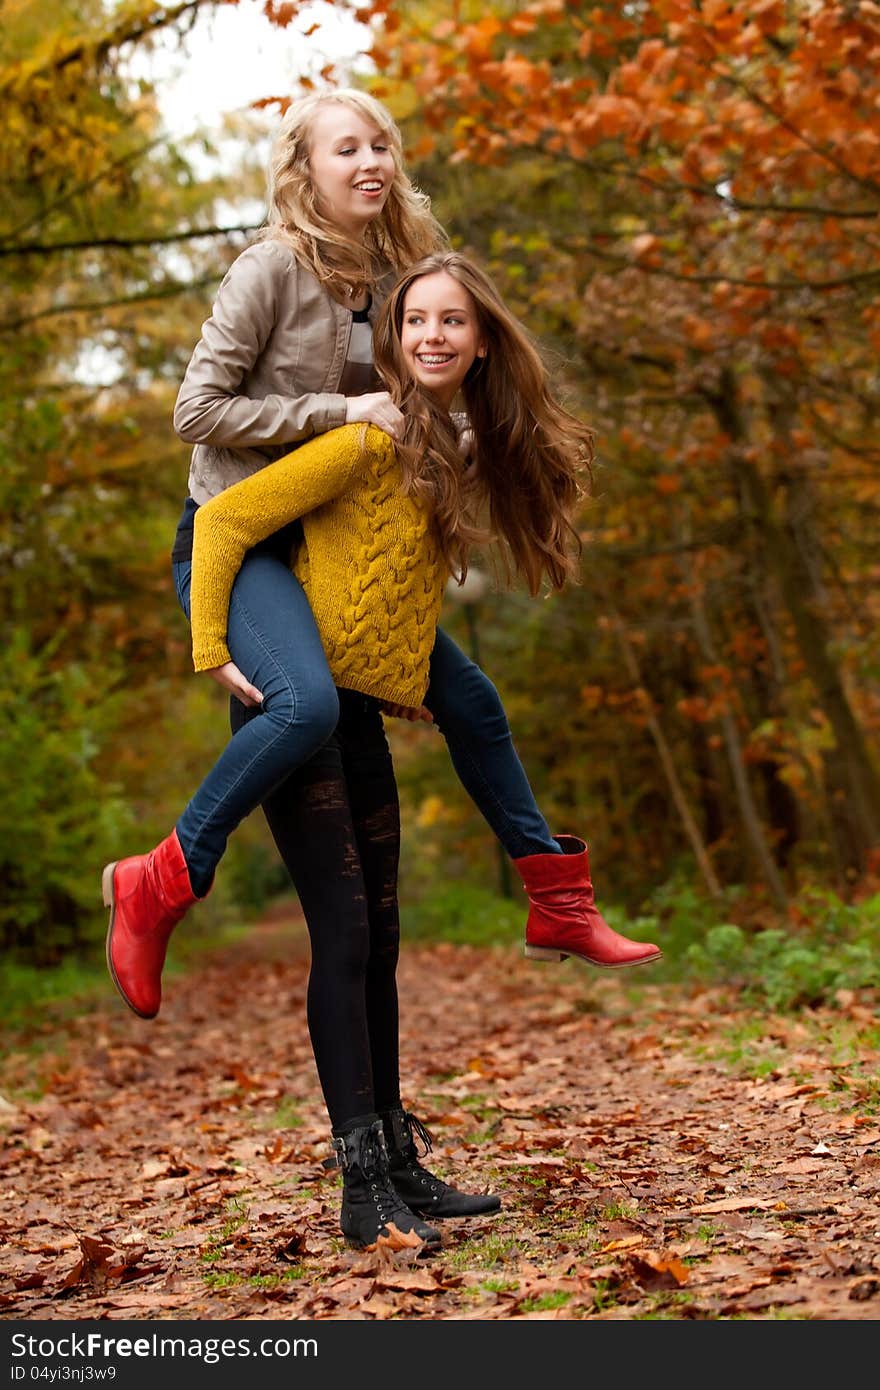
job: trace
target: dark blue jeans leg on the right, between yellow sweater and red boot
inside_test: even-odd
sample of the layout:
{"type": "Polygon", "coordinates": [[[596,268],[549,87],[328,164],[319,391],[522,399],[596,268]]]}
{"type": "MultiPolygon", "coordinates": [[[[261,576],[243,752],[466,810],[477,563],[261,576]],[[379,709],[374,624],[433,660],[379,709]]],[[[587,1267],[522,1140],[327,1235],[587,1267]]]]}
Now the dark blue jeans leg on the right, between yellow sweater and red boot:
{"type": "Polygon", "coordinates": [[[442,628],[425,705],[459,780],[512,859],[560,853],[513,746],[498,691],[442,628]]]}

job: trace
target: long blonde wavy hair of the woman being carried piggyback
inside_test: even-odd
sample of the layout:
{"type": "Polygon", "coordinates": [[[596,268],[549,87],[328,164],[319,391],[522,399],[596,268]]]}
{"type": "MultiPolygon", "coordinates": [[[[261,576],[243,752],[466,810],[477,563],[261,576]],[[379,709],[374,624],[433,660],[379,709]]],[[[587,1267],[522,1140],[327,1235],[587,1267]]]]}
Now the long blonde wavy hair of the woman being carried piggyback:
{"type": "Polygon", "coordinates": [[[268,204],[259,238],[286,242],[302,265],[342,296],[359,295],[389,267],[402,270],[448,245],[431,200],[403,168],[403,143],[393,117],[381,101],[356,88],[311,92],[291,101],[272,143],[268,204]],[[314,118],[328,103],[345,106],[375,125],[395,161],[388,200],[367,225],[363,242],[345,236],[317,204],[309,153],[314,118]]]}

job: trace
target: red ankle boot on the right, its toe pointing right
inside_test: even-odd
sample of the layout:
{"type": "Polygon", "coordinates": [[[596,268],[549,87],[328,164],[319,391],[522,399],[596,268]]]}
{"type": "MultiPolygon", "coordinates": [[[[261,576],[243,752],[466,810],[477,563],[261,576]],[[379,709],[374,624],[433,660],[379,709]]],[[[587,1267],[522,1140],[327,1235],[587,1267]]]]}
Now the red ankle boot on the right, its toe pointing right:
{"type": "Polygon", "coordinates": [[[525,955],[531,960],[573,955],[606,970],[659,960],[663,952],[658,947],[621,937],[596,908],[584,841],[574,835],[555,840],[562,845],[560,855],[513,860],[528,894],[525,955]]]}

